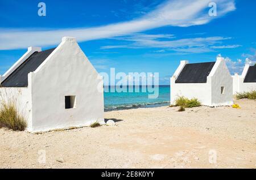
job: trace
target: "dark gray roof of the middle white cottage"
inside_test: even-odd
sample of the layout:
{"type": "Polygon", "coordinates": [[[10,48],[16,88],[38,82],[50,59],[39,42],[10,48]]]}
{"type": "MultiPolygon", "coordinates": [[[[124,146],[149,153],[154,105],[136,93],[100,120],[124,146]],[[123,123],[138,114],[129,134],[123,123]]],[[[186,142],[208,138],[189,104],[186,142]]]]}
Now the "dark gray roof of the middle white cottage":
{"type": "Polygon", "coordinates": [[[184,66],[175,83],[206,83],[215,62],[193,63],[184,66]]]}

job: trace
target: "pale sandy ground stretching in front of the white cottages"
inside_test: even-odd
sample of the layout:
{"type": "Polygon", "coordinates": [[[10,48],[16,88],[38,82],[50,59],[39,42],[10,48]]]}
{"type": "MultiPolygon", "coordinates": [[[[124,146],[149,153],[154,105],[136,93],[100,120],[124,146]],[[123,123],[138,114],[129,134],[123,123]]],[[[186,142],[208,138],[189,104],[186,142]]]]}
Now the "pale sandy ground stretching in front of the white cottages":
{"type": "Polygon", "coordinates": [[[116,126],[44,134],[2,127],[0,168],[256,168],[256,101],[236,102],[118,110],[105,113],[116,126]]]}

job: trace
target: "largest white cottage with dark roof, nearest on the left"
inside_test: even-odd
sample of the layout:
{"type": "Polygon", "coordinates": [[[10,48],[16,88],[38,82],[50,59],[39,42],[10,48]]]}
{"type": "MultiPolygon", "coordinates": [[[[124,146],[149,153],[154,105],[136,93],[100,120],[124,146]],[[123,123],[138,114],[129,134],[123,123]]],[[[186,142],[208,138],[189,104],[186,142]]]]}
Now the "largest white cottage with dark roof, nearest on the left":
{"type": "Polygon", "coordinates": [[[75,38],[27,52],[1,76],[2,97],[15,96],[31,132],[104,123],[102,77],[75,38]]]}

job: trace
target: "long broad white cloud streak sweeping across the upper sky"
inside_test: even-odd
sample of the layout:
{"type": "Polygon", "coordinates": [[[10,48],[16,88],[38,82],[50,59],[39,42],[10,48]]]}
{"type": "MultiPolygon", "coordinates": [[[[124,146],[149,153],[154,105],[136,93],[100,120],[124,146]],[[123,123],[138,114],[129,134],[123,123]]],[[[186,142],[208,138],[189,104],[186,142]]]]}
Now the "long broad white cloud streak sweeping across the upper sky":
{"type": "Polygon", "coordinates": [[[179,27],[201,25],[236,9],[234,0],[215,0],[218,16],[209,16],[209,2],[211,0],[170,0],[158,5],[155,10],[141,18],[101,27],[36,30],[2,28],[0,29],[0,50],[27,48],[31,45],[55,45],[63,36],[73,36],[81,42],[123,36],[167,25],[179,27]]]}

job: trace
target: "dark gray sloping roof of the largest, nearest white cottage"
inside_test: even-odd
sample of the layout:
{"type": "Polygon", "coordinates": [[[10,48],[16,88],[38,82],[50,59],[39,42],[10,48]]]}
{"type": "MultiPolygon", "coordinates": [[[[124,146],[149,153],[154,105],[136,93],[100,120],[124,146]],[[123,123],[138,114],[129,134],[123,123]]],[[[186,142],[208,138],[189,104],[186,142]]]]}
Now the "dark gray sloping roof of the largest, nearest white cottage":
{"type": "Polygon", "coordinates": [[[2,87],[27,87],[27,75],[38,68],[55,48],[34,52],[16,70],[14,70],[2,83],[2,87]]]}

